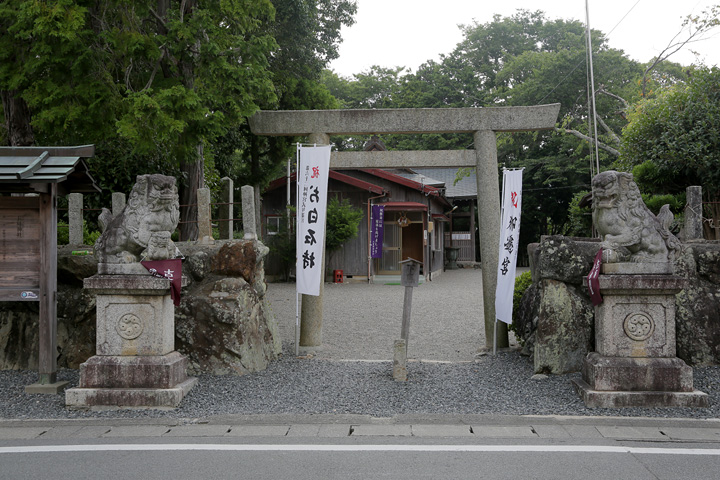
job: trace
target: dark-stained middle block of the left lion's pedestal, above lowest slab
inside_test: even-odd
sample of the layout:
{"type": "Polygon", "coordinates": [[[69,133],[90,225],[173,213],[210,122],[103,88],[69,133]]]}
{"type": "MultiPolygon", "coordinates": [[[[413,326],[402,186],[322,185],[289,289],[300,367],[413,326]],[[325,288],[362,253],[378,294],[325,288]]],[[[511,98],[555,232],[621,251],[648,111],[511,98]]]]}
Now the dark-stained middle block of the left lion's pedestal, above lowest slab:
{"type": "Polygon", "coordinates": [[[187,380],[187,358],[167,355],[96,355],[80,365],[81,388],[169,389],[187,380]]]}

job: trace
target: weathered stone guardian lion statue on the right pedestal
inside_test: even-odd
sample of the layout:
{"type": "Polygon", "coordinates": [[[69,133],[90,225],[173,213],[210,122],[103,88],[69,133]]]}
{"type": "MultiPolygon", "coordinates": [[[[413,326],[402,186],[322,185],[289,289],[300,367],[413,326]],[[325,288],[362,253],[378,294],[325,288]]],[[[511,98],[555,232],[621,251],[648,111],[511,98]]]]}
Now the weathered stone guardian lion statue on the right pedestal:
{"type": "Polygon", "coordinates": [[[593,223],[607,263],[672,261],[680,241],[668,230],[673,215],[664,205],[656,217],[629,173],[609,170],[592,180],[593,223]]]}

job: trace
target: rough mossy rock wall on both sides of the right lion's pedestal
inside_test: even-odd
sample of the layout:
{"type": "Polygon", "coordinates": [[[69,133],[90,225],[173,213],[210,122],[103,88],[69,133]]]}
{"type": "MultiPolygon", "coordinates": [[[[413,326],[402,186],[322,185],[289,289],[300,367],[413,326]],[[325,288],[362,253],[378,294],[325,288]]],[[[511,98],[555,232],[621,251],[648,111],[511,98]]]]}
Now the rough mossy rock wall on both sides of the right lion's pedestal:
{"type": "MultiPolygon", "coordinates": [[[[594,308],[582,279],[599,247],[593,239],[562,236],[528,247],[533,284],[517,329],[537,373],[580,371],[595,349],[594,308]]],[[[675,271],[687,280],[675,297],[677,356],[690,365],[720,364],[720,242],[684,243],[675,271]]]]}

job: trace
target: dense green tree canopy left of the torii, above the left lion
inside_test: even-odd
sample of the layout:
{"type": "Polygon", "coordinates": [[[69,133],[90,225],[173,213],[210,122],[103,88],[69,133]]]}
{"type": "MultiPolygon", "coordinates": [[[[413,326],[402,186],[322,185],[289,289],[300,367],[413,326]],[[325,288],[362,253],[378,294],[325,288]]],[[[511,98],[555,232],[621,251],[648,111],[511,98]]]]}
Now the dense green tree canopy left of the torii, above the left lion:
{"type": "Polygon", "coordinates": [[[285,158],[288,142],[254,139],[249,116],[334,105],[319,79],[354,13],[351,0],[4,1],[5,143],[95,143],[108,191],[140,173],[178,176],[193,238],[215,161],[256,183],[285,158]]]}

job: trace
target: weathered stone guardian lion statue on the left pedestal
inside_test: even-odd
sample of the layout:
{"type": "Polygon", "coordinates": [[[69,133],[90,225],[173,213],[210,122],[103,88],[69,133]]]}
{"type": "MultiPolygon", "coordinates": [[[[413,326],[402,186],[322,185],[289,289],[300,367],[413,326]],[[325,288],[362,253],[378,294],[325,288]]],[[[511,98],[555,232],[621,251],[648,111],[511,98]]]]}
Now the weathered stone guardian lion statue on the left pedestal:
{"type": "Polygon", "coordinates": [[[103,208],[98,219],[103,233],[95,243],[95,257],[100,263],[134,263],[147,256],[150,245],[151,256],[158,259],[157,252],[163,249],[157,245],[160,239],[168,242],[165,251],[175,252],[170,232],[175,231],[179,219],[180,202],[175,178],[159,174],[138,175],[127,205],[118,216],[113,217],[103,208]]]}

